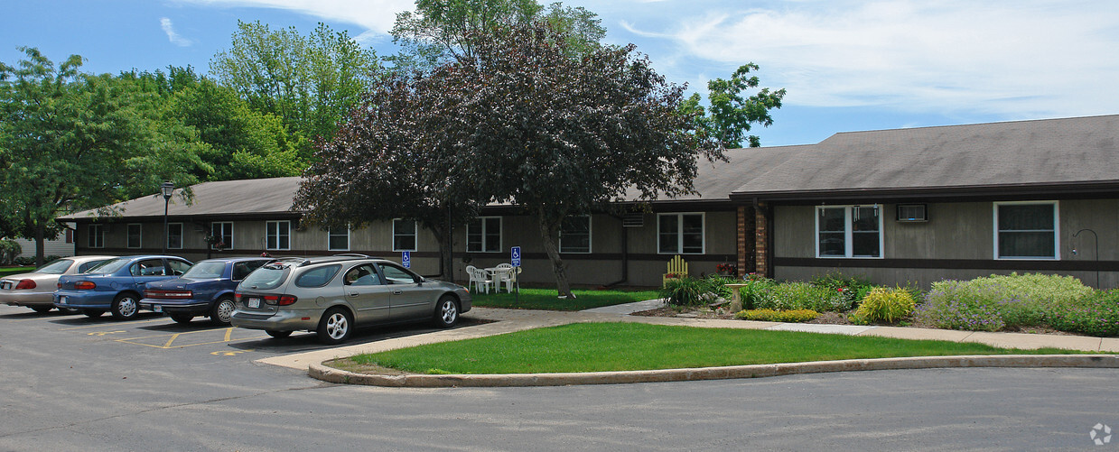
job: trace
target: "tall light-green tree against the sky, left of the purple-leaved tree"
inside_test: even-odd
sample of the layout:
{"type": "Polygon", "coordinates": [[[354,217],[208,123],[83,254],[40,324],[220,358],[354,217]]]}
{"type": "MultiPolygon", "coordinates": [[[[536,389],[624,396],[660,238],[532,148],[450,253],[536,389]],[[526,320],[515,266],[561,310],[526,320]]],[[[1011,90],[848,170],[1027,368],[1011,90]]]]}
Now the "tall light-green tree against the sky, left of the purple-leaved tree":
{"type": "Polygon", "coordinates": [[[261,22],[237,28],[231,48],[210,60],[210,73],[254,110],[275,114],[312,140],[333,135],[380,73],[373,49],[323,23],[309,36],[261,22]]]}

